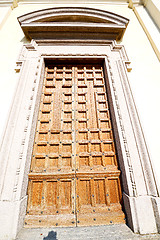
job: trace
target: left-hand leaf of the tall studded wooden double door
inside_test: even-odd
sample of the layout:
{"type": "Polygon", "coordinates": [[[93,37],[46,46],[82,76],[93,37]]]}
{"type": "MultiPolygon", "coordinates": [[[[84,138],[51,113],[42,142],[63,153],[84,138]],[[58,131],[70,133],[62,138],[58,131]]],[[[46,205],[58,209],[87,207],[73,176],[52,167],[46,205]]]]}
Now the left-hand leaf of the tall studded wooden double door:
{"type": "Polygon", "coordinates": [[[74,226],[72,67],[46,67],[31,170],[25,227],[74,226]]]}

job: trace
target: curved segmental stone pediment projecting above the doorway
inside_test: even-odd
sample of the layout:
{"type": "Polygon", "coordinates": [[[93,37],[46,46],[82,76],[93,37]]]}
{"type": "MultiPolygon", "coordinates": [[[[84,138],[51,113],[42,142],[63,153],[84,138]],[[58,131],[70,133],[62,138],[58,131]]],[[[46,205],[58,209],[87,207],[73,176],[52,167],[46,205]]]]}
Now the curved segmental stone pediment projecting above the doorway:
{"type": "Polygon", "coordinates": [[[122,38],[129,20],[92,8],[51,8],[18,18],[29,39],[116,39],[122,38]],[[92,37],[94,34],[94,38],[92,37]]]}

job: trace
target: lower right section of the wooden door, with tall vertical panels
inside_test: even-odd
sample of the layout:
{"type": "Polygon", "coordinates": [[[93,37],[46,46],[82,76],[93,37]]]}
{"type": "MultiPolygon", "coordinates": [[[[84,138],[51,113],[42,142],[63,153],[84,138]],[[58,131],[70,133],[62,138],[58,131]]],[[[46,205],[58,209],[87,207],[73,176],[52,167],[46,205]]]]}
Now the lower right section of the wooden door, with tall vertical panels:
{"type": "Polygon", "coordinates": [[[119,194],[117,180],[118,178],[110,179],[102,176],[100,178],[80,177],[78,179],[78,226],[124,222],[125,216],[118,199],[120,196],[117,197],[119,194]],[[114,186],[113,189],[112,186],[114,186]]]}

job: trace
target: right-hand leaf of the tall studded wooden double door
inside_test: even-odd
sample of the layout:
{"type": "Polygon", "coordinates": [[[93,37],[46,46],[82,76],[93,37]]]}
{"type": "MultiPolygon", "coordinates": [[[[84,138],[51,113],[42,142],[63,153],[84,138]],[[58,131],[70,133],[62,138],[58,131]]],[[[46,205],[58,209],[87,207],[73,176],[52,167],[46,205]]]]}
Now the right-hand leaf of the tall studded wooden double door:
{"type": "Polygon", "coordinates": [[[124,222],[103,69],[77,67],[75,76],[77,224],[124,222]]]}

